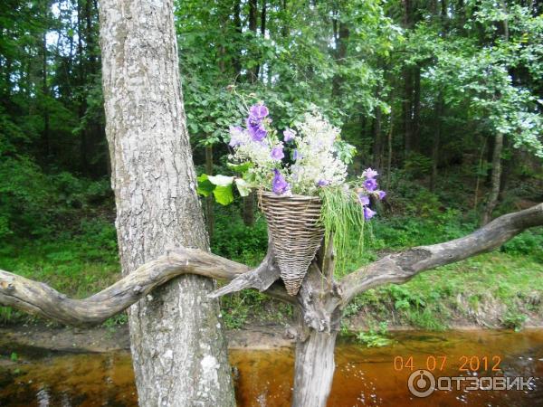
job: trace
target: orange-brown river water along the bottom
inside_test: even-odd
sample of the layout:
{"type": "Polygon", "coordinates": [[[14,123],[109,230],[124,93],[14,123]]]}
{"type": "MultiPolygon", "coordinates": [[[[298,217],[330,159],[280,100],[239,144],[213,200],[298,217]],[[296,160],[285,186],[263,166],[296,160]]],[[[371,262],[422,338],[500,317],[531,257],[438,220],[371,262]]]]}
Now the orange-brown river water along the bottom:
{"type": "MultiPolygon", "coordinates": [[[[340,341],[329,406],[543,406],[543,329],[522,333],[403,332],[395,334],[394,340],[394,345],[381,348],[340,341]],[[413,366],[409,356],[413,357],[413,366]],[[428,364],[432,368],[434,361],[436,376],[534,376],[535,389],[464,389],[439,391],[424,399],[412,396],[406,384],[412,367],[416,370],[428,364]],[[484,364],[488,364],[486,370],[484,364]],[[495,372],[492,373],[493,367],[495,372]],[[459,371],[462,368],[468,372],[459,371]]],[[[66,355],[11,344],[0,349],[4,361],[5,355],[13,351],[20,354],[17,364],[0,363],[0,406],[137,404],[130,357],[126,352],[66,355]]],[[[232,350],[231,362],[238,405],[290,405],[292,349],[232,350]]]]}

